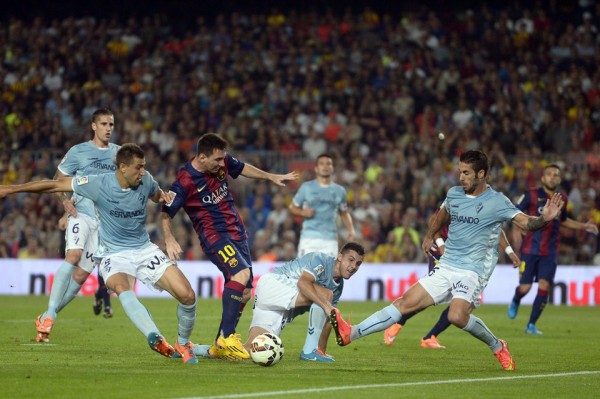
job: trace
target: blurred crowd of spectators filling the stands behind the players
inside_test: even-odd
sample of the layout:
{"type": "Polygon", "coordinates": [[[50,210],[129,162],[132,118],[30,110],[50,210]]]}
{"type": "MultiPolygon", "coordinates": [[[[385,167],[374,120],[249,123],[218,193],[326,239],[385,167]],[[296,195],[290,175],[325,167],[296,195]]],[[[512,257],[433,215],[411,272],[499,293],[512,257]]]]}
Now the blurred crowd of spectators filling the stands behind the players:
{"type": "MultiPolygon", "coordinates": [[[[332,154],[369,262],[425,261],[427,220],[471,148],[488,153],[490,183],[515,201],[558,163],[571,217],[600,224],[600,5],[566,3],[273,9],[198,16],[185,29],[162,13],[7,18],[0,179],[52,178],[108,107],[113,142],[141,145],[163,188],[209,131],[234,156],[305,180],[318,154],[332,154]]],[[[254,259],[293,258],[298,185],[240,180],[254,259]]],[[[61,257],[62,211],[52,195],[5,199],[0,257],[61,257]]],[[[152,206],[157,243],[158,214],[152,206]]],[[[187,217],[173,228],[186,259],[205,259],[187,217]]],[[[560,264],[599,263],[594,235],[565,229],[560,250],[560,264]]]]}

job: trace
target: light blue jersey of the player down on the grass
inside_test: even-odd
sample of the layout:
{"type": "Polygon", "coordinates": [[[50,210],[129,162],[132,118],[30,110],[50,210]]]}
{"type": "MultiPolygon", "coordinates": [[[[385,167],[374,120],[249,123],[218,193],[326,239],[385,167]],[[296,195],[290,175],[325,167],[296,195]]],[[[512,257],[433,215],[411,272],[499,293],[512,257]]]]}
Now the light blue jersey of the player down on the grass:
{"type": "Polygon", "coordinates": [[[315,277],[315,282],[333,292],[333,304],[337,303],[344,289],[344,279],[336,282],[333,279],[336,257],[321,252],[310,252],[284,265],[271,270],[269,273],[287,277],[290,285],[296,286],[303,272],[315,277]]]}

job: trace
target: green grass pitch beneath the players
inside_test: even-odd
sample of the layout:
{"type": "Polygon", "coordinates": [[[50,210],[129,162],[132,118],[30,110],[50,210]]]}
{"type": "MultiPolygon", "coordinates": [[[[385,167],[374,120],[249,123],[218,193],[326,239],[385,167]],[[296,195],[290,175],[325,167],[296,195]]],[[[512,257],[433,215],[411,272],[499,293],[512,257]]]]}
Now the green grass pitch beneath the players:
{"type": "MultiPolygon", "coordinates": [[[[174,343],[175,300],[143,298],[142,302],[167,340],[174,343]]],[[[91,298],[77,298],[60,313],[50,345],[38,344],[34,319],[46,304],[45,296],[0,296],[3,398],[581,399],[600,392],[594,338],[600,331],[600,310],[594,307],[549,306],[538,323],[544,335],[536,337],[524,333],[530,307],[521,307],[517,319],[509,320],[506,306],[482,306],[476,314],[508,341],[515,358],[517,371],[505,372],[483,343],[455,327],[440,336],[447,349],[419,346],[441,307],[415,316],[391,347],[383,343],[382,333],[347,347],[338,347],[330,337],[328,353],[336,358],[333,364],[298,360],[307,323],[306,315],[299,316],[281,334],[286,350],[283,360],[265,368],[250,361],[200,359],[198,364],[183,365],[180,360],[166,359],[149,349],[117,298],[113,298],[112,319],[94,316],[91,298]],[[592,373],[558,375],[581,371],[592,373]]],[[[344,316],[352,312],[358,322],[384,305],[345,302],[339,308],[344,316]]],[[[220,309],[220,301],[199,300],[194,342],[211,341],[220,309]]],[[[251,316],[248,306],[238,329],[243,340],[251,316]]]]}

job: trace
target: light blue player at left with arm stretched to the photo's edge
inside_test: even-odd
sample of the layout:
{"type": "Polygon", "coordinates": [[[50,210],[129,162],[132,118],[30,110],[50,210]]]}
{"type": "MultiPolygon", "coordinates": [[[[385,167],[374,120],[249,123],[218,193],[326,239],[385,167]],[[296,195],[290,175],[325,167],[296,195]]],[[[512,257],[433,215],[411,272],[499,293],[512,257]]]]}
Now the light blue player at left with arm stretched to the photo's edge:
{"type": "Polygon", "coordinates": [[[165,203],[173,196],[165,194],[146,172],[144,151],[138,145],[124,144],[117,152],[116,163],[115,173],[0,186],[0,198],[18,192],[75,192],[90,199],[99,218],[99,244],[94,256],[100,259],[106,285],[118,295],[125,313],[151,349],[166,357],[177,351],[184,363],[196,363],[189,342],[196,320],[196,295],[175,262],[150,241],[145,229],[148,199],[165,203]],[[154,291],[165,290],[178,300],[175,348],[137,299],[136,280],[154,291]]]}

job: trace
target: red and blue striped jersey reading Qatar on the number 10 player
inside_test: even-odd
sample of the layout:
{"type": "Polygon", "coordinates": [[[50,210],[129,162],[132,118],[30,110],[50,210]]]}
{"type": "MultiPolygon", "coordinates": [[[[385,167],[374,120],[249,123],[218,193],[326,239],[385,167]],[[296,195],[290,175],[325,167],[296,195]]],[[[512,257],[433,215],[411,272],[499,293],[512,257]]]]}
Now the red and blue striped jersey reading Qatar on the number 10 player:
{"type": "Polygon", "coordinates": [[[171,186],[175,199],[170,206],[163,205],[162,211],[172,218],[183,207],[205,251],[223,238],[235,241],[247,238],[227,180],[227,176],[237,178],[244,165],[226,154],[225,168],[213,175],[197,171],[190,161],[179,170],[171,186]]]}

